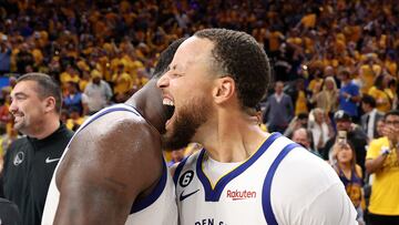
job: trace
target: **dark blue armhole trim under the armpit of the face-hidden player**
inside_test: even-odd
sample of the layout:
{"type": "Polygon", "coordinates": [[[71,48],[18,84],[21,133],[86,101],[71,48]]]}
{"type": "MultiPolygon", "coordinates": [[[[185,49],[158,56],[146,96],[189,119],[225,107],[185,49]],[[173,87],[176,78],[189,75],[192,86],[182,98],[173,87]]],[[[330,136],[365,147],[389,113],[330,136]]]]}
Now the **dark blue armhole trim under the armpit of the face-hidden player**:
{"type": "Polygon", "coordinates": [[[165,163],[165,160],[163,160],[163,166],[162,166],[162,176],[156,184],[155,188],[151,192],[151,194],[142,200],[137,200],[133,203],[133,206],[131,208],[131,214],[137,213],[139,211],[142,211],[146,207],[149,207],[151,204],[153,204],[162,194],[166,186],[166,180],[167,180],[167,166],[165,163]]]}

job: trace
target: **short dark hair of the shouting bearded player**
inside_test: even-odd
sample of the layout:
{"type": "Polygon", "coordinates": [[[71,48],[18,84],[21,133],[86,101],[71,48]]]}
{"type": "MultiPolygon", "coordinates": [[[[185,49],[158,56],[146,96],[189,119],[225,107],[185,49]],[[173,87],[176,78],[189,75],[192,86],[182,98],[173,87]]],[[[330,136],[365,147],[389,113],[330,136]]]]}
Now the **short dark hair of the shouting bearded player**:
{"type": "Polygon", "coordinates": [[[270,82],[270,64],[263,48],[252,35],[239,31],[204,29],[194,35],[214,43],[214,69],[236,82],[242,106],[255,108],[270,82]]]}

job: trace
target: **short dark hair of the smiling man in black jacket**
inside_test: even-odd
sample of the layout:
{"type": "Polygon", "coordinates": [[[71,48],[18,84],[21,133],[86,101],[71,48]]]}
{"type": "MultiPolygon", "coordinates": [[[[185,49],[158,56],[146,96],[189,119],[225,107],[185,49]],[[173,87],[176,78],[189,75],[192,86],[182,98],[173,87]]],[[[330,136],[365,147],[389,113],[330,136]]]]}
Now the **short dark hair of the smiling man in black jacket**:
{"type": "Polygon", "coordinates": [[[17,80],[17,83],[22,81],[34,81],[38,84],[38,95],[40,99],[52,96],[55,99],[55,112],[61,113],[62,95],[61,88],[54,79],[44,73],[27,73],[17,80]]]}

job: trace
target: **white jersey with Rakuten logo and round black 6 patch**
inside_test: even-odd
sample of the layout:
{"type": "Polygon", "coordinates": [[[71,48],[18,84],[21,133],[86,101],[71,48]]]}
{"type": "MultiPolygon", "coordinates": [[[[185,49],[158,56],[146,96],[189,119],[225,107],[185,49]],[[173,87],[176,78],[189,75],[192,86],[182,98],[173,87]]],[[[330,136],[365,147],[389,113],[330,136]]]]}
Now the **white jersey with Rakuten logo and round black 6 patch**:
{"type": "MultiPolygon", "coordinates": [[[[323,195],[326,190],[337,186],[340,196],[345,198],[346,195],[327,163],[279,133],[273,133],[257,152],[222,176],[215,185],[204,173],[206,158],[203,149],[176,168],[174,182],[182,225],[315,224],[308,223],[307,219],[313,218],[304,218],[301,214],[307,213],[303,211],[307,205],[313,206],[318,193],[323,195]]],[[[352,207],[350,200],[345,200],[345,203],[352,207]]],[[[348,208],[348,212],[355,214],[348,216],[348,221],[354,223],[347,223],[345,216],[337,221],[355,224],[355,209],[348,208]]]]}

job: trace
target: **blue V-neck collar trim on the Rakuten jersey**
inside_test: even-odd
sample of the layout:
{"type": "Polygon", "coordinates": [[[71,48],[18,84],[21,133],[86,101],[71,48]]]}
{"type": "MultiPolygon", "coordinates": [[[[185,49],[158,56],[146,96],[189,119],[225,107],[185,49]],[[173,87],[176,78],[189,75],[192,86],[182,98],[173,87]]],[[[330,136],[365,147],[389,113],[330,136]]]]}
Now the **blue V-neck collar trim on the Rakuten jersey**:
{"type": "Polygon", "coordinates": [[[252,157],[249,157],[246,162],[241,164],[238,167],[236,167],[235,170],[233,170],[232,172],[229,172],[228,174],[223,176],[216,183],[214,190],[212,188],[209,180],[206,177],[205,173],[202,170],[202,163],[203,163],[204,154],[205,154],[205,150],[203,149],[200,153],[200,156],[198,156],[198,160],[196,163],[196,172],[197,172],[197,176],[198,176],[201,183],[204,186],[205,201],[206,202],[217,202],[221,198],[222,192],[223,192],[224,187],[228,184],[228,182],[231,182],[232,180],[237,177],[239,174],[242,174],[244,171],[246,171],[252,164],[254,164],[266,152],[266,150],[272,145],[272,143],[279,136],[282,136],[280,133],[273,133],[262,144],[259,150],[256,151],[256,153],[252,157]]]}

